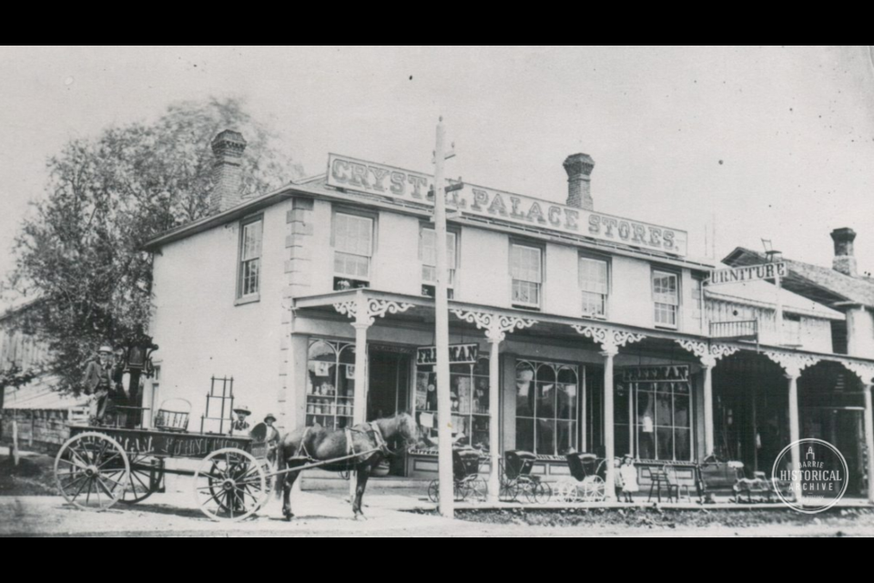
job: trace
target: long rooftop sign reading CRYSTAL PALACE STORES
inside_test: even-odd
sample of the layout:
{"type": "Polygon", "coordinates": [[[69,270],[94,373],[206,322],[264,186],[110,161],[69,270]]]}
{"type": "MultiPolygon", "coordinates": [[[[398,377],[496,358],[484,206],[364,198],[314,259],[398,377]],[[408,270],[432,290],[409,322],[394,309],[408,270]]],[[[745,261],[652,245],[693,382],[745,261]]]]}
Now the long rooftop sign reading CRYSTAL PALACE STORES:
{"type": "MultiPolygon", "coordinates": [[[[337,154],[328,158],[328,184],[368,194],[432,204],[433,177],[337,154]]],[[[464,184],[447,195],[462,213],[562,231],[596,240],[686,256],[687,233],[637,220],[545,202],[501,190],[464,184]]]]}

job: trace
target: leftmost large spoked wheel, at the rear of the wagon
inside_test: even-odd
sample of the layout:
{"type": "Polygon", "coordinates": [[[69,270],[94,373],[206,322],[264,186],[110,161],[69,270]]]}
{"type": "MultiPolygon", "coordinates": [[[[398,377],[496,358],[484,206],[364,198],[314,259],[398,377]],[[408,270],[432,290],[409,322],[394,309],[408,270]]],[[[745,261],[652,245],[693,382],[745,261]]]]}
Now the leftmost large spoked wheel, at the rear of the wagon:
{"type": "Polygon", "coordinates": [[[83,510],[102,512],[125,494],[130,465],[118,442],[95,432],[71,437],[55,458],[55,481],[61,496],[83,510]]]}

